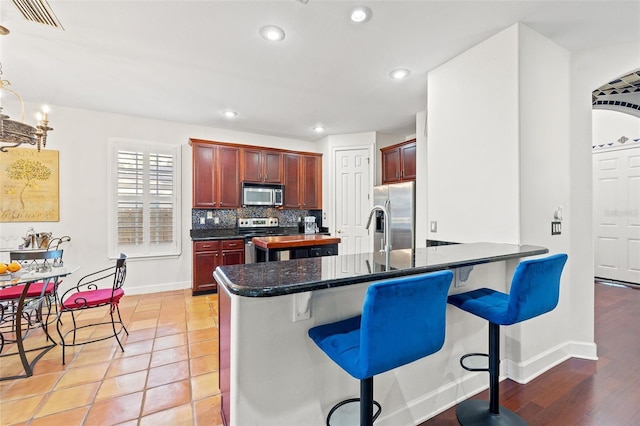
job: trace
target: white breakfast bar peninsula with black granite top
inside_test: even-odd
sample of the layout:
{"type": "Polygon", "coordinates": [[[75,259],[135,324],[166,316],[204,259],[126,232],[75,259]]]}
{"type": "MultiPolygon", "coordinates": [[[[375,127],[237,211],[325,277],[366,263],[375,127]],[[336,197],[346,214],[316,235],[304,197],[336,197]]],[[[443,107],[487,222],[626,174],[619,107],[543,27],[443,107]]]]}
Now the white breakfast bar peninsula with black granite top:
{"type": "MultiPolygon", "coordinates": [[[[222,415],[227,425],[319,425],[359,383],[307,337],[315,325],[358,315],[375,281],[456,270],[451,293],[487,286],[507,291],[522,257],[537,246],[457,244],[218,267],[222,415]],[[457,287],[467,278],[464,287],[457,287]],[[464,271],[464,273],[461,273],[464,271]]],[[[415,425],[486,388],[459,357],[486,348],[486,321],[447,310],[447,340],[436,354],[376,378],[383,407],[376,424],[415,425]]],[[[419,338],[419,337],[417,337],[419,338]]],[[[523,337],[524,338],[524,337],[523,337]]],[[[507,341],[505,350],[514,342],[507,341]]]]}

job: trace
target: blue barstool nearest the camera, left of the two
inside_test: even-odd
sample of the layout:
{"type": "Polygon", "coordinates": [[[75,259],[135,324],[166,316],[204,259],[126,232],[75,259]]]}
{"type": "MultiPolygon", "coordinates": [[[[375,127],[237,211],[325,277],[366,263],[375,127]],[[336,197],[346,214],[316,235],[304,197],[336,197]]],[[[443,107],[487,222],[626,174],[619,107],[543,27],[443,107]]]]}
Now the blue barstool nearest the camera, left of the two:
{"type": "Polygon", "coordinates": [[[440,350],[452,278],[451,271],[439,271],[374,283],[367,289],[361,315],[309,330],[329,358],[360,380],[360,398],[336,404],[327,426],[336,408],[357,401],[360,425],[372,425],[382,411],[373,400],[373,376],[440,350]]]}

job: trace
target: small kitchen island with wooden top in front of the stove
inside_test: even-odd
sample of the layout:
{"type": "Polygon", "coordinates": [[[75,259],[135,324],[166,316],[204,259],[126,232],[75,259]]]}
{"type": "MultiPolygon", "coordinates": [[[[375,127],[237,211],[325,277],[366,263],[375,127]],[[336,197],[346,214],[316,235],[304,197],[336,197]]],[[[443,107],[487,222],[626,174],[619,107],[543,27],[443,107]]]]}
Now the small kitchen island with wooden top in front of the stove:
{"type": "MultiPolygon", "coordinates": [[[[273,237],[254,237],[256,261],[280,260],[278,254],[287,251],[289,259],[335,256],[338,254],[340,238],[329,235],[299,234],[273,237]]],[[[289,260],[287,259],[287,260],[289,260]]]]}

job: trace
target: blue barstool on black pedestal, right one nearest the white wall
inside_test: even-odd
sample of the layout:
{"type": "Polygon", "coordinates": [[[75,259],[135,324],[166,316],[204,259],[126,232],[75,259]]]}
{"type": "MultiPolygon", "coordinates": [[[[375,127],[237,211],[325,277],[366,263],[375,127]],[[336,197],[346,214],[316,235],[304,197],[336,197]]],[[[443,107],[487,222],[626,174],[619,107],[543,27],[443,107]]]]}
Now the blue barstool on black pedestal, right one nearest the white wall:
{"type": "Polygon", "coordinates": [[[560,276],[566,254],[524,260],[518,264],[509,294],[481,288],[449,296],[449,303],[489,321],[489,353],[471,353],[460,358],[462,368],[489,372],[489,401],[468,399],[458,404],[461,425],[526,425],[516,413],[500,406],[500,326],[512,325],[552,311],[558,305],[560,276]],[[467,357],[489,358],[488,368],[466,366],[467,357]]]}

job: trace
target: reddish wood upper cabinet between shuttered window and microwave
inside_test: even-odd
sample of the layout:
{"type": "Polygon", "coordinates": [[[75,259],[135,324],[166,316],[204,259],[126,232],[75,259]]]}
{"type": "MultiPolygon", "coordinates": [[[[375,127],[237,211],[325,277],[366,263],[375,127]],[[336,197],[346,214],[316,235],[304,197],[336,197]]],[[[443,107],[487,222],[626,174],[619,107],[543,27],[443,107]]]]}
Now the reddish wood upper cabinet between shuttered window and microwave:
{"type": "Polygon", "coordinates": [[[193,207],[240,207],[240,148],[191,140],[193,207]]]}

